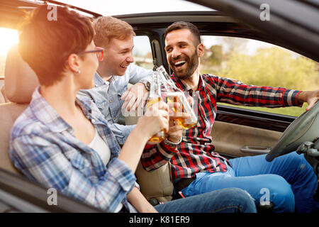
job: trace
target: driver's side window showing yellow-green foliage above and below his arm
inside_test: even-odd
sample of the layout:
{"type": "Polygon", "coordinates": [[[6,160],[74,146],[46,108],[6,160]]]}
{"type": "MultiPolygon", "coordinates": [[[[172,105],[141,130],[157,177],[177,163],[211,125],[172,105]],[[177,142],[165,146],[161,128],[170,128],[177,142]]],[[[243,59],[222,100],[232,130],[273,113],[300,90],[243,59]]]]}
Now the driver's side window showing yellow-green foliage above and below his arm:
{"type": "MultiPolygon", "coordinates": [[[[296,52],[247,38],[203,35],[201,39],[205,47],[205,54],[201,58],[202,74],[216,74],[259,86],[301,91],[319,89],[318,62],[296,52]]],[[[278,109],[237,107],[299,116],[306,106],[307,104],[304,104],[303,108],[278,109]]]]}

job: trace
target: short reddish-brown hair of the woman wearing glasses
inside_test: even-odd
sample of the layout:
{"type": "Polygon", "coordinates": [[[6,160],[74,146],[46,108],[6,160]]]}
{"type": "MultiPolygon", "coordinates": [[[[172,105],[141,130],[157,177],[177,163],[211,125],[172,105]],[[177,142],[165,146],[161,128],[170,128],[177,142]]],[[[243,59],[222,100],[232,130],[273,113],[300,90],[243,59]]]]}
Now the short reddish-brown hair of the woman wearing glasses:
{"type": "Polygon", "coordinates": [[[55,6],[56,20],[49,20],[47,5],[26,15],[19,26],[19,52],[37,74],[41,85],[62,79],[70,54],[82,52],[91,43],[94,29],[89,18],[55,6]]]}

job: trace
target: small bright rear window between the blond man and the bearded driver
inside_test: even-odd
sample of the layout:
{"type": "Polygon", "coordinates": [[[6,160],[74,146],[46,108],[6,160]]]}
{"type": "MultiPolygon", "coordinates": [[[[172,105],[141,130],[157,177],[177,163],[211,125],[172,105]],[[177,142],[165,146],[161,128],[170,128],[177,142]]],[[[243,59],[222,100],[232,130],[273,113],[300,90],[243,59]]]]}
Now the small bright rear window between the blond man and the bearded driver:
{"type": "Polygon", "coordinates": [[[134,37],[133,57],[136,65],[152,70],[153,58],[150,39],[147,35],[137,35],[134,37]]]}

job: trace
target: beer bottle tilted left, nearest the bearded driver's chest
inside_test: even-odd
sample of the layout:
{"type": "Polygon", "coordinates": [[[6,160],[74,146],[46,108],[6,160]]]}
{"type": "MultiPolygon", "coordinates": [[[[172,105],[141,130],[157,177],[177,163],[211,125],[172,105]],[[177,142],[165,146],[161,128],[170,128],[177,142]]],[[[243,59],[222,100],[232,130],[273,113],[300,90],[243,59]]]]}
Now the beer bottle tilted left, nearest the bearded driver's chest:
{"type": "MultiPolygon", "coordinates": [[[[164,88],[167,90],[167,101],[168,102],[179,102],[181,104],[181,111],[184,113],[187,113],[191,115],[190,119],[184,119],[179,118],[178,116],[173,116],[173,118],[177,119],[181,127],[184,129],[188,129],[191,127],[196,126],[198,123],[198,118],[196,114],[194,113],[194,110],[189,105],[189,101],[186,99],[186,96],[184,92],[179,89],[175,83],[172,81],[171,77],[169,77],[169,74],[167,74],[164,67],[161,65],[160,67],[157,67],[157,72],[159,72],[160,79],[162,80],[162,84],[164,84],[164,88]]],[[[172,109],[174,113],[177,112],[177,109],[172,109]]]]}

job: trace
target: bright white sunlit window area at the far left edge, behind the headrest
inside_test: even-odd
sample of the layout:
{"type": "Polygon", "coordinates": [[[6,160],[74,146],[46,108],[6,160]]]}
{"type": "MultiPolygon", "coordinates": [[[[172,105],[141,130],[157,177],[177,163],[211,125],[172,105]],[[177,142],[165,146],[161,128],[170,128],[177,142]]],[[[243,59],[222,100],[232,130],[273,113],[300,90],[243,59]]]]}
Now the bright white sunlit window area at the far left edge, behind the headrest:
{"type": "Polygon", "coordinates": [[[9,28],[0,28],[0,79],[4,79],[6,55],[12,45],[18,43],[18,31],[9,28]]]}

